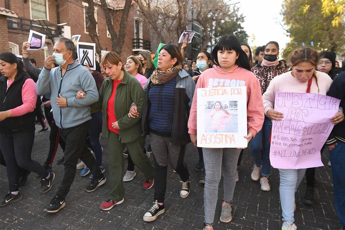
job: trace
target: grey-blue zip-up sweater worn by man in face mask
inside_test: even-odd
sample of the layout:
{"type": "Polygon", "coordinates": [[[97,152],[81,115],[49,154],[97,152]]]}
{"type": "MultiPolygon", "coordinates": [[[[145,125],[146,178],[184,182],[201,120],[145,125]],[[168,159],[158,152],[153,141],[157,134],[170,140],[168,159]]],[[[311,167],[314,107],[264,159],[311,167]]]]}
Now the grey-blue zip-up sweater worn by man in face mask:
{"type": "Polygon", "coordinates": [[[91,73],[78,62],[67,66],[65,74],[61,67],[51,70],[43,68],[36,84],[38,95],[50,93],[51,107],[56,125],[59,128],[71,128],[91,120],[90,104],[98,101],[95,79],[91,73]],[[86,92],[85,97],[77,99],[79,90],[86,92]],[[67,98],[67,107],[58,107],[55,103],[59,93],[67,98]]]}

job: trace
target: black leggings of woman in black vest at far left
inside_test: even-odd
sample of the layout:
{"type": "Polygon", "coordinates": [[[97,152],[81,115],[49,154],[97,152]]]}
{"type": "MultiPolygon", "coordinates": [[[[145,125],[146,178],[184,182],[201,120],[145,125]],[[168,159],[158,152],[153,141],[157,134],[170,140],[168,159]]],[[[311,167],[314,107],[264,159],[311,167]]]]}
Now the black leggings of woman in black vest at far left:
{"type": "Polygon", "coordinates": [[[40,163],[31,159],[35,132],[0,134],[0,148],[6,161],[7,178],[10,192],[18,191],[20,168],[37,173],[46,178],[48,172],[40,163]]]}

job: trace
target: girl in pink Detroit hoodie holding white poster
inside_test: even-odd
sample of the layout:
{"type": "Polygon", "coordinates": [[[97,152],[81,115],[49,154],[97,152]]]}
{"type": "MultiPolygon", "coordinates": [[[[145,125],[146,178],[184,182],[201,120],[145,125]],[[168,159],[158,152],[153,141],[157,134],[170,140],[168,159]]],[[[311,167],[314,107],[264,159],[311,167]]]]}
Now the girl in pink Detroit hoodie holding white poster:
{"type": "MultiPolygon", "coordinates": [[[[212,51],[213,68],[205,70],[199,77],[196,88],[246,86],[247,87],[247,136],[249,141],[262,128],[264,106],[260,83],[250,71],[246,53],[233,35],[223,36],[212,51]]],[[[241,116],[241,114],[238,114],[241,116]]],[[[188,120],[190,139],[197,144],[197,90],[188,120]]],[[[218,186],[223,173],[224,197],[220,221],[232,220],[231,202],[236,185],[236,166],[241,149],[203,148],[206,182],[204,189],[205,220],[204,229],[213,229],[214,215],[218,199],[218,186]]]]}

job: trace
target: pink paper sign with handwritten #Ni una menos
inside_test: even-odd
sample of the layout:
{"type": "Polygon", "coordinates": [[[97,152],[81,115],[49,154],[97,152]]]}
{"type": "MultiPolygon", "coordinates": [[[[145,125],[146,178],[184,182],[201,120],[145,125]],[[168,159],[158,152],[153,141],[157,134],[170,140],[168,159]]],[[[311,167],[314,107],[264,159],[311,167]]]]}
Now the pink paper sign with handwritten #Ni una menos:
{"type": "Polygon", "coordinates": [[[274,110],[284,114],[273,121],[269,159],[273,168],[305,169],[323,166],[321,148],[334,124],[340,100],[314,93],[277,92],[274,110]]]}

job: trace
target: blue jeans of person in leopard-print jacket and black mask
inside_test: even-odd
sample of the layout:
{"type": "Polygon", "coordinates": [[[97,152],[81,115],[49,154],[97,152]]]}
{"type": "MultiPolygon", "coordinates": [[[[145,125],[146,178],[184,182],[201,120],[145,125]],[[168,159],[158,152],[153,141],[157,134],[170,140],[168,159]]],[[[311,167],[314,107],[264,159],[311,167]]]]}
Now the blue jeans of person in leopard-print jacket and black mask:
{"type": "Polygon", "coordinates": [[[272,121],[265,116],[262,129],[250,140],[250,150],[256,166],[262,166],[261,174],[263,176],[271,175],[271,162],[269,161],[269,136],[271,134],[272,121]],[[262,150],[261,150],[262,144],[262,150]],[[262,155],[262,157],[261,157],[262,155]]]}

